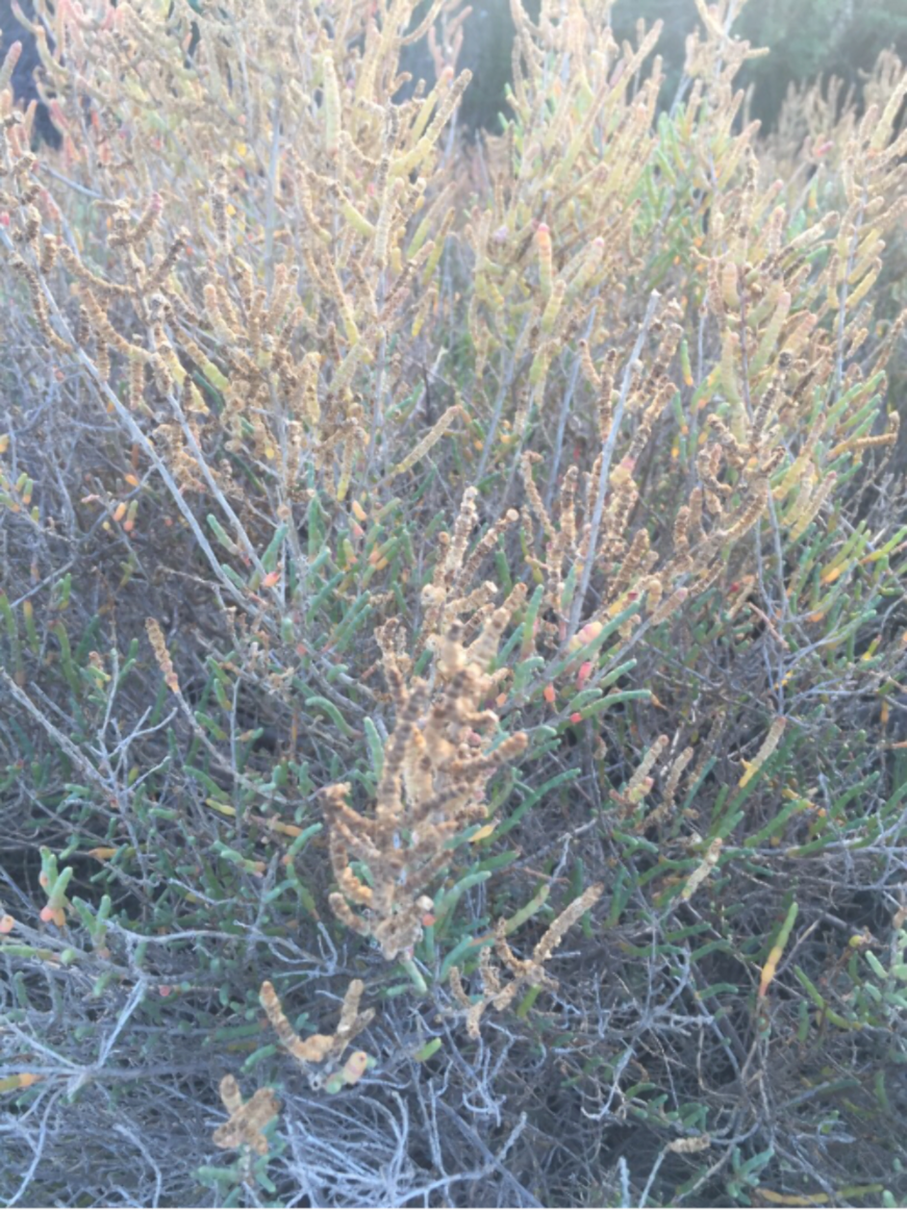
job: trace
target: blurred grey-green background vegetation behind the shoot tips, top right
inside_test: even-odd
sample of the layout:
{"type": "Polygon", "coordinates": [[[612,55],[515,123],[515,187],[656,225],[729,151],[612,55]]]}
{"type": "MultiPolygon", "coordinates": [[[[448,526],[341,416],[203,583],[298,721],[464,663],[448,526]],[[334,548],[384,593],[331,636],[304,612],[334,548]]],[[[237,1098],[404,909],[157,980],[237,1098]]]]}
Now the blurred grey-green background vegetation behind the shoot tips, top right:
{"type": "MultiPolygon", "coordinates": [[[[538,0],[525,0],[525,7],[533,19],[538,16],[538,0]]],[[[640,18],[647,27],[664,22],[658,44],[666,77],[662,104],[670,105],[683,71],[684,39],[699,24],[695,0],[618,0],[612,13],[617,39],[635,41],[640,18]]],[[[879,51],[892,47],[907,58],[907,0],[752,0],[734,29],[772,52],[740,76],[744,86],[753,85],[751,114],[762,120],[763,132],[776,121],[788,85],[837,75],[859,96],[879,51]]],[[[473,71],[461,115],[470,129],[496,129],[510,79],[513,34],[509,0],[474,0],[458,59],[473,71]]],[[[416,77],[432,77],[424,44],[414,47],[409,69],[416,77]]]]}

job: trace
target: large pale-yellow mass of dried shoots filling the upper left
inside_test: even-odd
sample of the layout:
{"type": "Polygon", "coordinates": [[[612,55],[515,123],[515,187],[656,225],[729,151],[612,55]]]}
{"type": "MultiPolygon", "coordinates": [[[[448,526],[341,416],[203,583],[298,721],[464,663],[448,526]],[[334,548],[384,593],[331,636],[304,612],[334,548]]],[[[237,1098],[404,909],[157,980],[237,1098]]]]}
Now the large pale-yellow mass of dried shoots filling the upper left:
{"type": "MultiPolygon", "coordinates": [[[[126,380],[133,439],[172,492],[216,502],[244,564],[255,565],[255,509],[230,503],[243,492],[224,451],[252,460],[287,523],[311,467],[343,500],[357,466],[399,474],[462,415],[449,409],[411,450],[386,421],[401,380],[388,350],[437,296],[454,211],[432,178],[469,80],[447,63],[434,88],[399,99],[399,54],[441,10],[457,41],[455,6],[437,2],[418,22],[415,7],[369,16],[347,4],[323,23],[296,5],[167,15],[39,0],[25,22],[64,162],[93,178],[106,234],[73,237],[10,115],[0,201],[19,244],[13,267],[48,345],[91,363],[108,410],[126,380]],[[92,119],[76,134],[64,113],[86,99],[92,119]]],[[[452,62],[447,41],[435,51],[452,62]]]]}

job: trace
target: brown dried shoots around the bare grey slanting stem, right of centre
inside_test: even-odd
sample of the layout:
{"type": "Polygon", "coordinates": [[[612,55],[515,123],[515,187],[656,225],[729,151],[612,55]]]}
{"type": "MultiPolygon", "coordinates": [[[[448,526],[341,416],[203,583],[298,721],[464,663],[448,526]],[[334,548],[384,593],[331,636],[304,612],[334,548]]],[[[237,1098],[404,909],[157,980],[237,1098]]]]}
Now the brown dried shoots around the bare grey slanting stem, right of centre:
{"type": "Polygon", "coordinates": [[[784,457],[782,448],[775,444],[775,431],[767,432],[774,392],[757,409],[752,424],[736,426],[744,433],[743,440],[717,415],[709,417],[697,459],[700,483],[678,509],[671,541],[663,542],[662,551],[652,544],[646,526],[634,525],[641,495],[640,461],[677,390],[666,368],[682,335],[676,322],[678,311],[677,305],[669,306],[666,322],[659,318],[652,324],[660,340],[649,373],[630,363],[619,390],[614,352],[603,358],[599,370],[588,344],[580,342],[585,375],[597,394],[601,451],[587,476],[580,476],[576,465],[567,469],[554,518],[533,479],[533,466],[544,460],[533,451],[522,455],[528,501],[524,536],[526,546],[532,548],[535,532],[530,518],[535,514],[544,547],[541,557],[530,554],[528,563],[545,584],[545,609],[558,618],[544,623],[543,630],[555,644],[566,638],[579,641],[573,635],[583,613],[580,638],[589,639],[596,627],[636,601],[640,613],[623,624],[622,633],[631,633],[643,610],[651,623],[665,621],[691,593],[703,593],[715,583],[724,567],[724,549],[744,537],[768,506],[769,479],[784,457]],[[632,436],[619,462],[611,468],[617,426],[624,416],[629,417],[632,436]],[[733,486],[727,480],[728,473],[734,477],[733,486]],[[732,495],[734,507],[727,509],[724,501],[732,495]],[[583,589],[593,569],[597,570],[599,603],[589,612],[583,589]]]}

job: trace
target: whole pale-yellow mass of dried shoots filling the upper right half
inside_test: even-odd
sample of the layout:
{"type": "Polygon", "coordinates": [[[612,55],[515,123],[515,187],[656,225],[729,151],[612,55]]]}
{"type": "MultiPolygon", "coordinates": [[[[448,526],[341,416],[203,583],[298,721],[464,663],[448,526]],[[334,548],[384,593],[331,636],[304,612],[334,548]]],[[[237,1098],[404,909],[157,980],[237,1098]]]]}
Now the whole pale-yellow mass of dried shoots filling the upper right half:
{"type": "MultiPolygon", "coordinates": [[[[883,65],[871,111],[836,129],[844,212],[818,214],[791,236],[799,198],[785,204],[781,183],[759,179],[758,123],[735,131],[744,93],[733,91],[734,76],[761,52],[729,36],[728,5],[699,5],[704,33],[687,45],[692,93],[663,128],[668,159],[659,159],[666,185],[689,197],[668,238],[677,248],[675,264],[688,255],[691,273],[701,280],[701,288],[692,290],[700,302],[698,376],[683,338],[686,296],[651,324],[662,338],[649,373],[637,359],[641,341],[622,371],[619,350],[631,330],[628,318],[632,322],[622,286],[645,280],[634,254],[634,224],[662,230],[668,212],[652,207],[643,213],[641,201],[625,204],[646,155],[652,123],[645,111],[659,67],[630,99],[625,85],[651,52],[653,36],[642,30],[636,48],[617,47],[607,8],[584,4],[556,12],[542,5],[535,24],[521,5],[514,6],[515,119],[491,142],[490,196],[484,209],[473,208],[464,230],[475,254],[469,309],[475,373],[490,390],[481,468],[509,459],[514,440],[527,443],[532,408],[550,419],[554,433],[553,449],[527,450],[520,460],[527,561],[545,583],[539,638],[553,644],[572,639],[582,622],[594,628],[632,601],[640,601],[639,616],[624,624],[624,634],[646,613],[663,621],[686,598],[721,581],[732,548],[741,551],[763,517],[776,548],[779,526],[791,541],[799,540],[833,500],[842,472],[863,451],[886,451],[897,438],[895,415],[878,432],[874,411],[861,409],[879,390],[878,371],[903,318],[891,325],[868,371],[857,357],[871,334],[867,299],[880,270],[883,237],[902,212],[899,161],[907,136],[897,136],[895,123],[903,73],[883,65]],[[551,62],[568,62],[570,71],[543,70],[551,62]],[[636,120],[645,133],[636,132],[636,120]],[[602,145],[589,137],[596,122],[608,128],[602,145]],[[700,215],[707,217],[705,232],[704,221],[684,230],[688,215],[697,217],[694,192],[709,198],[709,213],[700,215]],[[717,348],[706,373],[703,355],[712,324],[717,348]],[[573,370],[555,379],[572,338],[579,338],[573,370]],[[692,399],[671,379],[678,346],[692,399]],[[514,387],[521,365],[527,370],[514,387]],[[579,368],[596,397],[591,442],[600,443],[601,454],[589,472],[580,462],[560,477],[567,434],[583,431],[571,417],[579,368]],[[513,424],[503,419],[508,393],[516,401],[513,424]],[[556,415],[554,398],[561,401],[556,415]],[[688,468],[686,485],[674,484],[672,532],[662,517],[658,526],[646,520],[652,509],[642,497],[643,476],[660,466],[657,446],[670,440],[671,408],[682,417],[672,456],[682,446],[688,468]],[[538,483],[536,465],[544,476],[538,483]],[[543,530],[541,551],[531,517],[543,530]]],[[[759,544],[757,536],[749,549],[759,544]]],[[[735,558],[729,578],[749,586],[732,603],[739,610],[753,580],[740,566],[744,555],[735,558]]]]}

